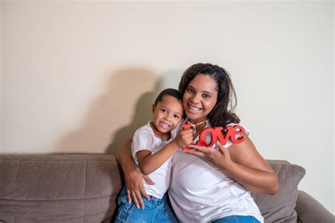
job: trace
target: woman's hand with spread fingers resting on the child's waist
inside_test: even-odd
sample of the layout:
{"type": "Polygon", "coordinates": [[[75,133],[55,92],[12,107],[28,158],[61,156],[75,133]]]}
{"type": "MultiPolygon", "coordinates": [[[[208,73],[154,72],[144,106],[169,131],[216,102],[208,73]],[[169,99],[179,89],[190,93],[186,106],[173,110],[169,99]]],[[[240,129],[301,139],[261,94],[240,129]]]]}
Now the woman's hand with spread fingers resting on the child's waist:
{"type": "Polygon", "coordinates": [[[150,185],[155,184],[148,176],[143,175],[138,167],[136,167],[135,171],[130,171],[127,174],[124,174],[128,203],[131,203],[132,198],[136,207],[139,208],[141,206],[142,209],[144,209],[142,196],[146,198],[146,200],[150,200],[146,190],[144,189],[143,179],[150,185]]]}

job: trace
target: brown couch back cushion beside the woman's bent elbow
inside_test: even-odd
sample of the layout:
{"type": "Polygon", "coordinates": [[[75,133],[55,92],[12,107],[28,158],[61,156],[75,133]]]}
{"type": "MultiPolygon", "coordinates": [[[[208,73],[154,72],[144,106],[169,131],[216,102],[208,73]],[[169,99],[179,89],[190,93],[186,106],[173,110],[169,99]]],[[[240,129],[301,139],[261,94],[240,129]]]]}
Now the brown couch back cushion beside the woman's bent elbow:
{"type": "Polygon", "coordinates": [[[265,222],[296,222],[295,202],[298,183],[305,176],[305,169],[281,160],[267,160],[278,176],[276,195],[252,193],[265,222]]]}

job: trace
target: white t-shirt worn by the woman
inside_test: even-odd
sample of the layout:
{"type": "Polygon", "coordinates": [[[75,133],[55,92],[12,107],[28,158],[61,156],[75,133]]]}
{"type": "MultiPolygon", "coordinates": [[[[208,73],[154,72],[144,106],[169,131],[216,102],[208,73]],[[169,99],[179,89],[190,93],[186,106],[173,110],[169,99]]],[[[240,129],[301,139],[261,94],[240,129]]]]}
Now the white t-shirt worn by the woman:
{"type": "MultiPolygon", "coordinates": [[[[228,141],[225,147],[232,144],[228,141]]],[[[205,159],[181,150],[172,159],[169,195],[180,222],[211,222],[230,215],[251,215],[264,222],[246,188],[205,159]]]]}

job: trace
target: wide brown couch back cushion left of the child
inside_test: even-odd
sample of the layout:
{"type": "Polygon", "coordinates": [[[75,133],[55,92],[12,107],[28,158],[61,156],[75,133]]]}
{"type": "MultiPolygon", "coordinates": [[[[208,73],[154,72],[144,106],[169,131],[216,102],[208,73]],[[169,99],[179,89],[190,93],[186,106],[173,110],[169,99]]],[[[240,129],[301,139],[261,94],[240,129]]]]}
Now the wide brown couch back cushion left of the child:
{"type": "Polygon", "coordinates": [[[0,155],[0,222],[109,222],[120,188],[112,155],[0,155]]]}

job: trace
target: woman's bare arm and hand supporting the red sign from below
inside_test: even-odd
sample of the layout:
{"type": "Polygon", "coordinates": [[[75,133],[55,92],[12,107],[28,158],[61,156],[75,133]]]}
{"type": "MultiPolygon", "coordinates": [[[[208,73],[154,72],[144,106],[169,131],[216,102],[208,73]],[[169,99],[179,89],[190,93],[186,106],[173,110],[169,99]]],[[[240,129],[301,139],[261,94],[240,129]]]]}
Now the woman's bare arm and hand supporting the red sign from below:
{"type": "Polygon", "coordinates": [[[264,160],[247,135],[239,144],[225,148],[220,143],[218,150],[211,147],[189,145],[194,150],[187,152],[199,157],[205,157],[223,171],[237,179],[245,188],[254,193],[274,195],[278,191],[278,179],[273,169],[264,160]]]}

